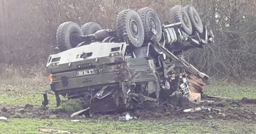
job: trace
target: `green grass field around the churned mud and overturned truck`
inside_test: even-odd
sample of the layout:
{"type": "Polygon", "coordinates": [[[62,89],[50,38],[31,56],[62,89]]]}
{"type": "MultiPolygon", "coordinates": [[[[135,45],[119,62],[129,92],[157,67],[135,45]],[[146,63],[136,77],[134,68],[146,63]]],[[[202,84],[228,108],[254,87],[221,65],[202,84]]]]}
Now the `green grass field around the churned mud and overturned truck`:
{"type": "MultiPolygon", "coordinates": [[[[230,99],[256,97],[253,87],[213,87],[207,86],[204,92],[207,95],[225,96],[230,99]]],[[[1,91],[1,90],[0,90],[1,91]]],[[[24,106],[26,104],[41,106],[43,96],[41,91],[21,92],[1,91],[1,105],[24,106]]],[[[55,108],[55,97],[49,95],[50,108],[55,108]]],[[[133,120],[98,121],[83,119],[73,123],[67,119],[9,119],[0,121],[0,133],[41,133],[39,128],[60,129],[71,133],[256,133],[256,123],[244,121],[224,120],[189,120],[178,119],[169,121],[133,120]]]]}

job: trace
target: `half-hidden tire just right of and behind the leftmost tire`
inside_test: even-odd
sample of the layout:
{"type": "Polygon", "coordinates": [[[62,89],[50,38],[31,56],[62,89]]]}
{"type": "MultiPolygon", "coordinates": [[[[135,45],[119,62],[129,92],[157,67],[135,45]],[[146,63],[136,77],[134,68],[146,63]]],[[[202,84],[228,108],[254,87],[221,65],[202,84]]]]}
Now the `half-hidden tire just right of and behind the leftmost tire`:
{"type": "Polygon", "coordinates": [[[89,22],[82,25],[81,29],[83,31],[83,35],[91,35],[96,31],[102,30],[102,27],[98,23],[89,22]]]}

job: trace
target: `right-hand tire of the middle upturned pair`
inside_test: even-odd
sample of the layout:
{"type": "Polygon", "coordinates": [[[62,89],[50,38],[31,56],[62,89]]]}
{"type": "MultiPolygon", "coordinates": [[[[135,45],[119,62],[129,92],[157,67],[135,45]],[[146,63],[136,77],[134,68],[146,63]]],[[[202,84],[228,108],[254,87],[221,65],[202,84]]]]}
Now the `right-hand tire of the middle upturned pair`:
{"type": "Polygon", "coordinates": [[[141,21],[144,29],[144,43],[148,43],[153,36],[151,29],[155,29],[157,32],[157,36],[155,37],[155,41],[160,41],[162,37],[162,27],[160,19],[157,13],[151,9],[150,7],[144,7],[139,9],[138,11],[139,17],[141,17],[141,21]]]}

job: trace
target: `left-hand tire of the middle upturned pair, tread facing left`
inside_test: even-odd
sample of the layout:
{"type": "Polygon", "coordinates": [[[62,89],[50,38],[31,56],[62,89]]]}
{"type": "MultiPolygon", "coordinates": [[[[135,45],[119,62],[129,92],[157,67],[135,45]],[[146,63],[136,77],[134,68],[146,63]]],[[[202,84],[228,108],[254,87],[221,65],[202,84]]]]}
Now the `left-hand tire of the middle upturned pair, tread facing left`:
{"type": "Polygon", "coordinates": [[[143,45],[143,24],[136,11],[126,9],[118,13],[117,35],[133,47],[141,47],[143,45]]]}

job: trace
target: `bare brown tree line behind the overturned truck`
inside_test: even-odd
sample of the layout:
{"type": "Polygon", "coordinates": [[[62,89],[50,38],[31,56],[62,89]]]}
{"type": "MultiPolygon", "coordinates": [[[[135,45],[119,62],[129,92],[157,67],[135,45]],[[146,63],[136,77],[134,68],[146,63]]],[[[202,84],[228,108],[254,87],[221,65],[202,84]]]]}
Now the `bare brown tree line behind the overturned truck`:
{"type": "Polygon", "coordinates": [[[175,5],[193,5],[215,34],[214,43],[184,53],[189,63],[221,80],[256,76],[254,0],[0,0],[0,77],[10,69],[24,77],[45,71],[60,23],[95,21],[115,29],[119,11],[143,7],[153,7],[164,23],[175,5]]]}

